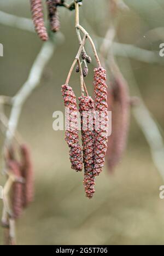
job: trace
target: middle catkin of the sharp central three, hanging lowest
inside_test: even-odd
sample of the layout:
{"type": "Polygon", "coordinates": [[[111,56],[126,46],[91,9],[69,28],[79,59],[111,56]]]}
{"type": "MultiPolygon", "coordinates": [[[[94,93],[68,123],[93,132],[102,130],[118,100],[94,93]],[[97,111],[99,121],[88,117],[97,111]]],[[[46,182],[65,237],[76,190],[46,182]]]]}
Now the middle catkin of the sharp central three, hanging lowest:
{"type": "Polygon", "coordinates": [[[81,138],[83,144],[84,188],[91,199],[95,193],[94,158],[95,158],[95,107],[89,96],[79,97],[81,116],[81,138]]]}

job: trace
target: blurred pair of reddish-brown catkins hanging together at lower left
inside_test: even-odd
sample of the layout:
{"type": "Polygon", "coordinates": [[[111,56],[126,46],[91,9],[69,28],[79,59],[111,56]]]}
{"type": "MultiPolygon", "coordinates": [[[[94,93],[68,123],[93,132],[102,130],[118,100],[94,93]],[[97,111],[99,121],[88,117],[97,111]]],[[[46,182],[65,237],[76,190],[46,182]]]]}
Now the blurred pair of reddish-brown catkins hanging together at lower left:
{"type": "Polygon", "coordinates": [[[20,158],[20,161],[16,159],[13,148],[7,150],[7,168],[15,177],[11,193],[11,217],[14,219],[20,218],[24,208],[33,201],[34,195],[33,166],[30,150],[26,145],[20,147],[20,158]]]}

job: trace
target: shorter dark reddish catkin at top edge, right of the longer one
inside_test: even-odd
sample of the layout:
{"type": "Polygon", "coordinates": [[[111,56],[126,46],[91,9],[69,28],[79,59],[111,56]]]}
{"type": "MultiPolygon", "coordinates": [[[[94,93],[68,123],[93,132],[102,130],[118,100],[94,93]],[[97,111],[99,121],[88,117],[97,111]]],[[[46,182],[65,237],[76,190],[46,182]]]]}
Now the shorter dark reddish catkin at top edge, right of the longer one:
{"type": "Polygon", "coordinates": [[[60,21],[58,19],[57,5],[60,1],[58,0],[46,0],[48,6],[48,16],[50,21],[51,31],[57,32],[60,30],[60,21]]]}

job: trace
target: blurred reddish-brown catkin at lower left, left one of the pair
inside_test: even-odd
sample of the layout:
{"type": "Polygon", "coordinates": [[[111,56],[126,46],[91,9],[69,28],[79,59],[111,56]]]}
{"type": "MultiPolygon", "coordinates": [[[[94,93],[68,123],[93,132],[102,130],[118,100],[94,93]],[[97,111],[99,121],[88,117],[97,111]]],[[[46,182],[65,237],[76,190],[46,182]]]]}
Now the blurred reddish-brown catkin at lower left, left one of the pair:
{"type": "MultiPolygon", "coordinates": [[[[7,166],[15,177],[21,178],[21,168],[16,161],[9,160],[7,166]]],[[[18,219],[22,214],[22,184],[15,181],[12,189],[11,203],[14,214],[12,217],[18,219]]]]}

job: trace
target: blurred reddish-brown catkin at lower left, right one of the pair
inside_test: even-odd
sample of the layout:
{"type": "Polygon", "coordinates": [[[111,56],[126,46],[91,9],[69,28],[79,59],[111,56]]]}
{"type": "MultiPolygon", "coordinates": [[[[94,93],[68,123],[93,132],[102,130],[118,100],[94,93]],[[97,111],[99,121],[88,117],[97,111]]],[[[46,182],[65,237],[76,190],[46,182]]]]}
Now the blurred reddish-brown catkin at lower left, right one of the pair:
{"type": "Polygon", "coordinates": [[[27,207],[33,201],[34,196],[33,165],[30,149],[26,145],[22,145],[20,150],[22,157],[22,177],[25,179],[22,191],[22,204],[24,207],[27,207]]]}

